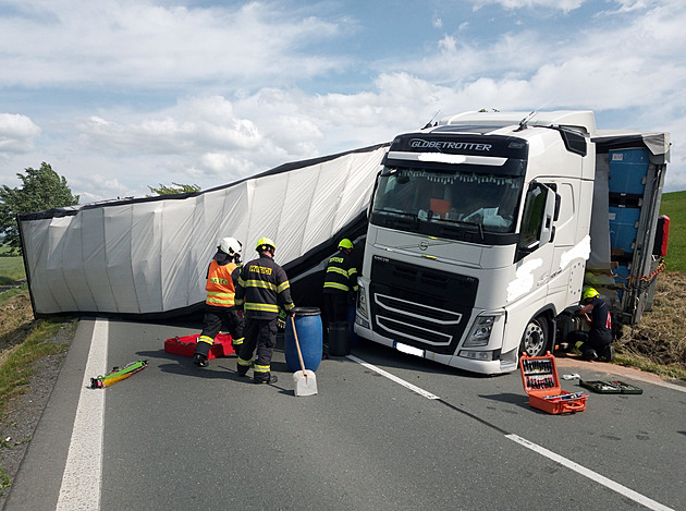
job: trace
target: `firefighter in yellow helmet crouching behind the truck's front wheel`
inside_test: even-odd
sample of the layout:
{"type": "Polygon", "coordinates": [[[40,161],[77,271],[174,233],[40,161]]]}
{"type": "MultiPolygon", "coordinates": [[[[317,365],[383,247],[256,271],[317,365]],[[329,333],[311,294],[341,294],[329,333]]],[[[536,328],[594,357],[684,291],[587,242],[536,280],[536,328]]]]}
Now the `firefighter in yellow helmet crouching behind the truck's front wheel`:
{"type": "Polygon", "coordinates": [[[605,362],[611,362],[614,358],[612,318],[608,304],[600,297],[600,293],[593,288],[585,288],[579,308],[574,313],[588,319],[590,330],[572,332],[569,344],[577,348],[586,361],[603,357],[605,362]]]}

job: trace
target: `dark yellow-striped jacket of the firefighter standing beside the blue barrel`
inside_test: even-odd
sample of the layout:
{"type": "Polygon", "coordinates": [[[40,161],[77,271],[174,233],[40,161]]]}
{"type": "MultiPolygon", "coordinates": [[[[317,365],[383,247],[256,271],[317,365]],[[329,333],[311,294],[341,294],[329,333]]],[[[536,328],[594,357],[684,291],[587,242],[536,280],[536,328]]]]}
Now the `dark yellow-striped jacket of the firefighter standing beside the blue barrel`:
{"type": "Polygon", "coordinates": [[[255,319],[273,319],[279,307],[291,311],[291,284],[283,268],[264,254],[246,263],[238,277],[235,303],[244,307],[246,317],[255,319]]]}

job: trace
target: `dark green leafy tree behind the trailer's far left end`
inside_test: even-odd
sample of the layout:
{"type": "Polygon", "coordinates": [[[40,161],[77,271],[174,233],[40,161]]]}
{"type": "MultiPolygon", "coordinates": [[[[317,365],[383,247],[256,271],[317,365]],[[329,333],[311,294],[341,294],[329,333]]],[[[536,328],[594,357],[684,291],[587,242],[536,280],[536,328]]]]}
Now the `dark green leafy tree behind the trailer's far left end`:
{"type": "Polygon", "coordinates": [[[66,179],[58,175],[45,161],[40,169],[28,167],[25,174],[16,175],[22,181],[21,187],[11,188],[7,184],[0,187],[0,233],[4,234],[4,245],[21,252],[17,215],[75,206],[78,195],[72,195],[66,179]]]}

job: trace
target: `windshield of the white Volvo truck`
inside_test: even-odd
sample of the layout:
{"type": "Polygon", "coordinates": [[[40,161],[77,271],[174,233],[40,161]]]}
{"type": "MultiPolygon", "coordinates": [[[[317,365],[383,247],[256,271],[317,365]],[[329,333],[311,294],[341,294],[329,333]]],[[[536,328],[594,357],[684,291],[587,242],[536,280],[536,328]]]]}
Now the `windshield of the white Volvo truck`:
{"type": "Polygon", "coordinates": [[[455,227],[514,232],[524,178],[479,170],[486,172],[475,171],[474,166],[469,171],[385,167],[373,200],[372,222],[427,233],[431,229],[427,231],[422,224],[451,224],[452,232],[455,227]],[[390,221],[392,218],[397,222],[390,221]]]}

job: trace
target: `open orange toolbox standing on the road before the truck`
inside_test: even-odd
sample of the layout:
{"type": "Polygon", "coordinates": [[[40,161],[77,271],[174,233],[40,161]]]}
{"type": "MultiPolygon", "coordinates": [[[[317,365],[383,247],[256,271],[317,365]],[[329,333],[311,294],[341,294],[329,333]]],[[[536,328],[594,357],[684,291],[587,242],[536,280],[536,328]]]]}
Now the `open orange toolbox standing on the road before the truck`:
{"type": "Polygon", "coordinates": [[[551,414],[581,412],[586,410],[586,392],[567,392],[560,387],[555,357],[548,352],[544,356],[519,358],[522,382],[529,396],[529,404],[551,414]]]}

